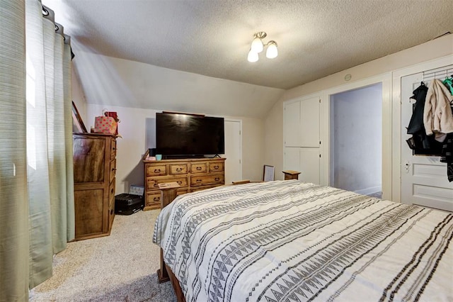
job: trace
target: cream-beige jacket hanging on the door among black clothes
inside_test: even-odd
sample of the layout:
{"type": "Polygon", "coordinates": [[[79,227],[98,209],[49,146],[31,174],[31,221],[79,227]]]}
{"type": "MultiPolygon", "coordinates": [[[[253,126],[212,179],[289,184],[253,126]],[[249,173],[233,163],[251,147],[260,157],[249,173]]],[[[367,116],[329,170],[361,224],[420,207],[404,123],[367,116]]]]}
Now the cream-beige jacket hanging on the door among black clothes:
{"type": "Polygon", "coordinates": [[[439,79],[433,79],[426,94],[423,124],[426,135],[453,133],[453,115],[450,102],[453,96],[439,79]]]}

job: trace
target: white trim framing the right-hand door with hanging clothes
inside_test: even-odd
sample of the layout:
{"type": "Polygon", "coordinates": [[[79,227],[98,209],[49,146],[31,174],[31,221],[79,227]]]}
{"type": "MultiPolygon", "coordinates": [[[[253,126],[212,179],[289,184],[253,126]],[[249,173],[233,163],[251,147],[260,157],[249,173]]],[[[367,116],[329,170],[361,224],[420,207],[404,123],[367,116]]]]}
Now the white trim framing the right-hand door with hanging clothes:
{"type": "Polygon", "coordinates": [[[394,186],[392,187],[393,201],[401,202],[401,78],[424,72],[429,69],[435,69],[453,64],[453,55],[440,57],[435,60],[430,60],[410,67],[394,70],[393,72],[393,89],[391,99],[391,110],[393,111],[392,117],[392,145],[394,146],[392,156],[392,179],[394,179],[394,186]]]}

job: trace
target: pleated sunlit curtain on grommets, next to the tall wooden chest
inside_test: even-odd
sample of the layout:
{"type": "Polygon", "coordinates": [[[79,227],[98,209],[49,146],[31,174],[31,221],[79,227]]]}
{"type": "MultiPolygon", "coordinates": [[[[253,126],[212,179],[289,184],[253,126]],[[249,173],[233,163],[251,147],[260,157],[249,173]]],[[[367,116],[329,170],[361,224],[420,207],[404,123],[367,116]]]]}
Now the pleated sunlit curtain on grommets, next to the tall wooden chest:
{"type": "Polygon", "coordinates": [[[74,239],[68,76],[71,51],[64,46],[63,28],[55,23],[53,11],[37,0],[27,0],[25,4],[30,288],[33,288],[52,276],[53,255],[74,239]]]}

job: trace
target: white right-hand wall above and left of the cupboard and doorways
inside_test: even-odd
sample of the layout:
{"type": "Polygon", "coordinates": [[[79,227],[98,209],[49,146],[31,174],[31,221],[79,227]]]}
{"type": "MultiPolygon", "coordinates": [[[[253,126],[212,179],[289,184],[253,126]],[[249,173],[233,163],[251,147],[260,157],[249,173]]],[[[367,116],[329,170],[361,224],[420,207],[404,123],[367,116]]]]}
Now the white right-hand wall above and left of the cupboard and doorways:
{"type": "MultiPolygon", "coordinates": [[[[283,168],[283,102],[291,99],[296,99],[309,94],[332,89],[333,87],[341,86],[350,82],[357,82],[369,77],[392,72],[397,69],[427,62],[439,57],[445,57],[453,54],[453,35],[445,35],[441,38],[417,45],[415,47],[396,52],[392,55],[373,60],[371,62],[345,69],[342,72],[331,74],[328,77],[323,77],[314,82],[310,82],[293,89],[285,91],[280,101],[277,101],[273,108],[270,109],[265,118],[265,162],[274,162],[276,177],[282,177],[278,171],[283,168]],[[350,82],[345,81],[345,75],[352,76],[350,82]]],[[[328,101],[323,99],[322,101],[328,101]]],[[[391,121],[391,117],[389,118],[391,121]]],[[[328,129],[328,123],[321,125],[321,129],[328,129]]],[[[398,133],[399,131],[396,131],[398,133]]],[[[394,131],[395,133],[395,131],[394,131]]],[[[325,135],[325,133],[323,133],[325,135]]],[[[326,155],[324,155],[326,156],[326,155]]]]}

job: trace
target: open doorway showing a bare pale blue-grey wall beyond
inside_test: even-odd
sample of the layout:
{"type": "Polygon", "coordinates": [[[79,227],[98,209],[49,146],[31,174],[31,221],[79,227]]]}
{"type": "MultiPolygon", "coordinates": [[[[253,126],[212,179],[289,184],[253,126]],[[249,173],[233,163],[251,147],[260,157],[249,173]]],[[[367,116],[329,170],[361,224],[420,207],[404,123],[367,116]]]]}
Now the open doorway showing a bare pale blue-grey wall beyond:
{"type": "Polygon", "coordinates": [[[330,185],[382,197],[382,83],[330,95],[330,185]]]}

